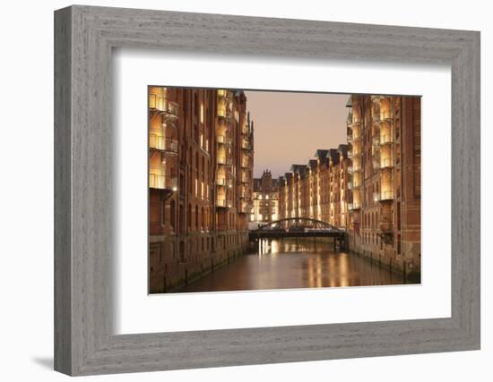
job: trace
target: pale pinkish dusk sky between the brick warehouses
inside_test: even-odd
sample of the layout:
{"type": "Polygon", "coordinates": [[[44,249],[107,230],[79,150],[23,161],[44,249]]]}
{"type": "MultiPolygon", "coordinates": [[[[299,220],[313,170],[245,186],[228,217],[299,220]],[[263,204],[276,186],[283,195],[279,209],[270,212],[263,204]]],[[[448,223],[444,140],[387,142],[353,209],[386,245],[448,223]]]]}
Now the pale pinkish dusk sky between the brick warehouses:
{"type": "Polygon", "coordinates": [[[337,149],[346,140],[348,95],[245,91],[255,128],[255,178],[272,178],[306,165],[316,149],[337,149]]]}

